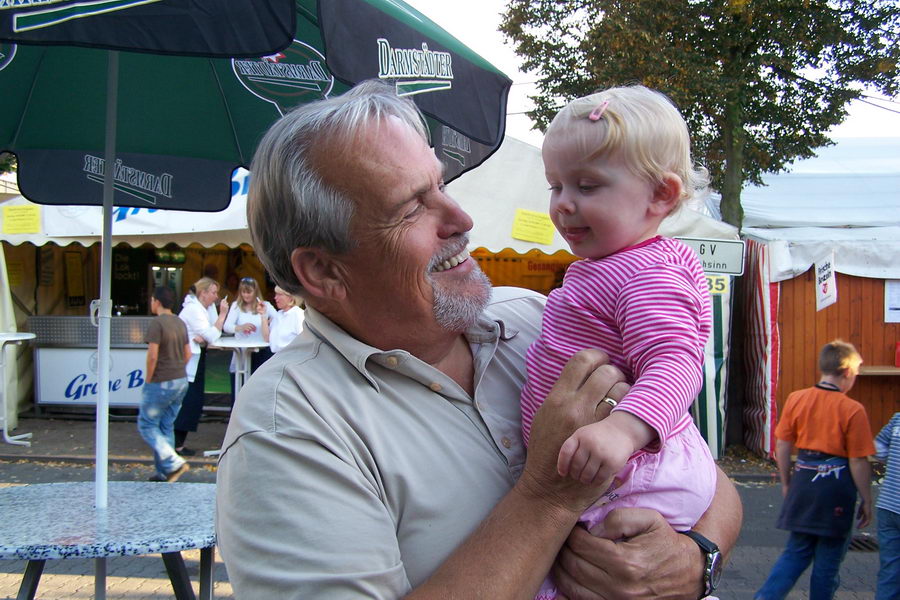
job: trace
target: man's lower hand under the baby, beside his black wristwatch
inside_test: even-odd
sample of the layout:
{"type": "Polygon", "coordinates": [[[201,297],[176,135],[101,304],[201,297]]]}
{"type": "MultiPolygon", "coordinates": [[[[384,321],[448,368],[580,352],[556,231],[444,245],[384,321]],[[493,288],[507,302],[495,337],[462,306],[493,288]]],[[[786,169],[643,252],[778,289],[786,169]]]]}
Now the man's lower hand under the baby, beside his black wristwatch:
{"type": "Polygon", "coordinates": [[[553,568],[569,600],[696,600],[703,580],[700,551],[653,510],[622,508],[594,529],[572,530],[553,568]],[[602,536],[602,537],[596,537],[602,536]]]}

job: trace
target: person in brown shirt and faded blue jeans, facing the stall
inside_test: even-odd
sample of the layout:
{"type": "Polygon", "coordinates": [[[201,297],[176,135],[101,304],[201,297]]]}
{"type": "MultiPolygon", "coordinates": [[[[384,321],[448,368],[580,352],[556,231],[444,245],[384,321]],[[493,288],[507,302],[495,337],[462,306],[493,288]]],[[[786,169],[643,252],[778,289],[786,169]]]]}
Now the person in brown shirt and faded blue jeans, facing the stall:
{"type": "Polygon", "coordinates": [[[150,298],[147,342],[147,371],[141,390],[138,432],[153,450],[156,473],[150,481],[176,481],[187,470],[187,462],[175,452],[174,423],[188,389],[185,366],[191,358],[187,327],[172,314],[175,292],[157,287],[150,298]]]}

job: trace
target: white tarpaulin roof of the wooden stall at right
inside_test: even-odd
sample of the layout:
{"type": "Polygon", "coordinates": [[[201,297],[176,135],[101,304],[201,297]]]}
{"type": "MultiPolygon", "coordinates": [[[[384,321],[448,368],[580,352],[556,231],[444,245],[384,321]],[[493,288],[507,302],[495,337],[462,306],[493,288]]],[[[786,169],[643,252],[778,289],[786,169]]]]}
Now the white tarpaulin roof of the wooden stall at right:
{"type": "Polygon", "coordinates": [[[765,242],[772,281],[834,251],[838,272],[900,279],[900,138],[847,138],[741,192],[742,235],[765,242]]]}

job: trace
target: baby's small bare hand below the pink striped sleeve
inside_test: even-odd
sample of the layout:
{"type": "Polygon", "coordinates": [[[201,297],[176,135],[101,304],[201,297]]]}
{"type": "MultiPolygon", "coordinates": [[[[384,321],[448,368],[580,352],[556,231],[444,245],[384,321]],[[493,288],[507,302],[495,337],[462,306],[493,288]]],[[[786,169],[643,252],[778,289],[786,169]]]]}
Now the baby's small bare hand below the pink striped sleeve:
{"type": "Polygon", "coordinates": [[[625,466],[634,442],[609,420],[580,427],[563,443],[557,470],[585,485],[600,484],[625,466]]]}

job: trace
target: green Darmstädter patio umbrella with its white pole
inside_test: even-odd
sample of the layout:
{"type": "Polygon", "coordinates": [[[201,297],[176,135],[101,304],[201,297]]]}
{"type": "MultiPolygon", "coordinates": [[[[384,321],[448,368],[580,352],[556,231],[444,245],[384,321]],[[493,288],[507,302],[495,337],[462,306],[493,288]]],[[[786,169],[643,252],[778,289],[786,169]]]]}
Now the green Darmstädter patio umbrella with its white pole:
{"type": "Polygon", "coordinates": [[[284,6],[0,0],[0,151],[17,156],[29,200],[104,207],[100,300],[92,303],[100,507],[113,206],[221,210],[232,171],[249,165],[273,121],[372,77],[395,84],[426,114],[447,180],[503,139],[510,80],[402,1],[284,6]]]}

